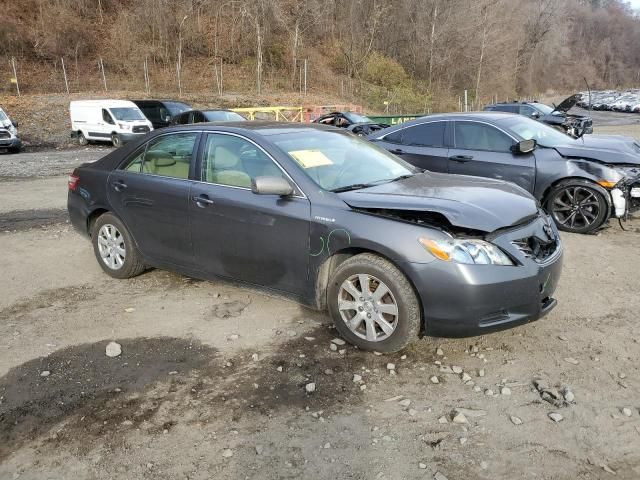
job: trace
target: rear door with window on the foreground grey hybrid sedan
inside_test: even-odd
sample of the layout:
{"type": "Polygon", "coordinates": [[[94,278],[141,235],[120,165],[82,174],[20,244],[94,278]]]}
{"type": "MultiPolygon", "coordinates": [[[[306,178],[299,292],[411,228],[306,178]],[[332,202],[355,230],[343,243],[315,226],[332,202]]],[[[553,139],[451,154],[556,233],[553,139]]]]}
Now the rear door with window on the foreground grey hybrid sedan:
{"type": "Polygon", "coordinates": [[[198,138],[198,132],[157,136],[109,176],[109,201],[150,259],[193,265],[189,177],[198,138]]]}

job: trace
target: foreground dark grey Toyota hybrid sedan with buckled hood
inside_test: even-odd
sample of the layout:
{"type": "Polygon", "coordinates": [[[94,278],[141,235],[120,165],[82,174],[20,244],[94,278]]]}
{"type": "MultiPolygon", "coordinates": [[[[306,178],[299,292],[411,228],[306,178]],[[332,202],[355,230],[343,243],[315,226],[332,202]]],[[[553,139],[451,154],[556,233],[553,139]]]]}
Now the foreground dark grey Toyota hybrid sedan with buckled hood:
{"type": "Polygon", "coordinates": [[[369,350],[509,328],[556,304],[562,245],[531,195],[422,173],[331,127],[156,130],[75,169],[68,209],[112,277],[153,266],[283,292],[369,350]]]}

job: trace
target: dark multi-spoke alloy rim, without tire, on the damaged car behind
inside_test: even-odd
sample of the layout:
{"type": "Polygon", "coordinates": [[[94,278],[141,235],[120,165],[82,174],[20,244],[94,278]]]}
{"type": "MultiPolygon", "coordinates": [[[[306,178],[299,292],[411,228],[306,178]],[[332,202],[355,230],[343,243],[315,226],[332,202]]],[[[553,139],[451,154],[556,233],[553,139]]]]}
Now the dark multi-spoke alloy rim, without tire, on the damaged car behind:
{"type": "Polygon", "coordinates": [[[593,225],[600,215],[600,201],[590,188],[567,187],[553,199],[554,220],[563,227],[583,229],[593,225]]]}

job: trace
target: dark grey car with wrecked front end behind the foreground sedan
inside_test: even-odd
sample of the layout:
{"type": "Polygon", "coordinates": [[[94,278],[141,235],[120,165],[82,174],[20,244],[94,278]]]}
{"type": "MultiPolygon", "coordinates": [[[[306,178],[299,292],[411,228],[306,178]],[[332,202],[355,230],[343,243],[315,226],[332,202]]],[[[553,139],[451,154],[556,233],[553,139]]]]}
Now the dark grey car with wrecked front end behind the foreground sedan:
{"type": "Polygon", "coordinates": [[[419,168],[513,182],[569,232],[592,232],[611,215],[640,207],[640,144],[633,138],[574,139],[494,112],[422,117],[369,139],[419,168]]]}

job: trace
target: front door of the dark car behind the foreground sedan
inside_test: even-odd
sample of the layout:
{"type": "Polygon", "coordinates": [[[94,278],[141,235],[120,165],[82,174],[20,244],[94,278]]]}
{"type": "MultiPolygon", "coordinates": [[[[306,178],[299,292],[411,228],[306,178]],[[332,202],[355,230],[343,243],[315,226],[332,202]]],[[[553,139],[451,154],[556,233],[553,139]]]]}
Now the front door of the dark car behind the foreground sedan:
{"type": "Polygon", "coordinates": [[[533,192],[536,174],[533,153],[514,154],[512,146],[516,140],[491,124],[475,121],[453,123],[450,173],[506,180],[533,192]]]}

